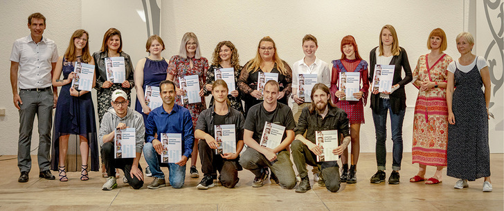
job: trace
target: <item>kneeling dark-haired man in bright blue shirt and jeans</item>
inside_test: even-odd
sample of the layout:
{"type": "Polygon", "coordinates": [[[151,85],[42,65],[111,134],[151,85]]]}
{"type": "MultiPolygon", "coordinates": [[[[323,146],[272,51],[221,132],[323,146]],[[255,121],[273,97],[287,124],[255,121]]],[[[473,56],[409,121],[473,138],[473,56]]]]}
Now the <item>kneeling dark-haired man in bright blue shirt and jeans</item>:
{"type": "Polygon", "coordinates": [[[147,139],[143,146],[143,154],[152,172],[152,177],[154,177],[150,185],[147,185],[147,188],[157,189],[166,185],[165,174],[161,171],[160,166],[168,166],[170,171],[168,179],[170,179],[172,187],[182,188],[186,178],[186,163],[191,156],[192,144],[195,140],[192,118],[189,110],[175,104],[176,94],[173,81],[161,81],[159,90],[159,95],[163,99],[163,106],[152,110],[145,124],[147,139]],[[161,137],[161,133],[181,134],[182,159],[177,163],[160,163],[163,149],[161,141],[156,137],[161,137]]]}

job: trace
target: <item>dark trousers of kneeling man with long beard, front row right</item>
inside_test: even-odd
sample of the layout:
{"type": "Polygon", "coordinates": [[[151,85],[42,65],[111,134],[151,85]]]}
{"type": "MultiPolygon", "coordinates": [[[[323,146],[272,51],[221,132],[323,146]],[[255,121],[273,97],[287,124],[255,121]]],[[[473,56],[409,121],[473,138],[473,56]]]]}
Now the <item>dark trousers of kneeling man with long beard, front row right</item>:
{"type": "Polygon", "coordinates": [[[307,145],[298,139],[292,141],[291,150],[294,164],[296,164],[296,168],[298,168],[299,177],[304,178],[308,176],[306,164],[318,166],[322,172],[321,179],[325,182],[325,188],[330,192],[339,190],[338,161],[316,162],[316,155],[308,149],[307,145]]]}

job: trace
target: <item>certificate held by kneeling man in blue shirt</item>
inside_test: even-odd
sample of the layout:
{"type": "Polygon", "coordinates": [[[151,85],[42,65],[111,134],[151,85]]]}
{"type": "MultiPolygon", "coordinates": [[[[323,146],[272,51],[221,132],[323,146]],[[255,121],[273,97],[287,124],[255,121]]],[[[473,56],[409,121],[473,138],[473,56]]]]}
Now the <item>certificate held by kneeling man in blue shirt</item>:
{"type": "Polygon", "coordinates": [[[161,133],[161,163],[177,163],[182,159],[182,134],[161,133]]]}

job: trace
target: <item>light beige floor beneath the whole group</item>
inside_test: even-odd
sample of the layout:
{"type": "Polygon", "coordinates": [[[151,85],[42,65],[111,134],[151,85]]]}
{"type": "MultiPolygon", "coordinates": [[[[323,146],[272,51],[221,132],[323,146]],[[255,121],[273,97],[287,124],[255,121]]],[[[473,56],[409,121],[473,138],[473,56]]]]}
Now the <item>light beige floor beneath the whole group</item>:
{"type": "MultiPolygon", "coordinates": [[[[152,178],[146,177],[141,190],[133,190],[118,179],[118,188],[103,191],[105,178],[100,172],[91,172],[89,181],[80,181],[80,172],[69,172],[66,183],[39,179],[36,156],[30,181],[18,183],[17,160],[11,159],[15,156],[2,156],[0,210],[504,210],[503,155],[491,155],[494,192],[481,191],[483,179],[456,190],[453,185],[457,179],[447,177],[446,171],[438,185],[410,183],[408,179],[417,172],[411,153],[404,153],[399,185],[372,184],[369,178],[376,171],[375,154],[361,153],[357,184],[343,184],[339,192],[331,193],[318,187],[310,175],[312,190],[304,194],[283,190],[269,181],[262,188],[252,188],[253,174],[248,170],[240,172],[240,182],[233,189],[216,185],[197,190],[201,178],[186,177],[181,189],[168,186],[149,190],[147,184],[152,178]]],[[[391,163],[390,153],[388,159],[391,163]]],[[[141,165],[145,167],[144,159],[141,165]]],[[[434,170],[427,168],[427,176],[434,170]]],[[[163,171],[167,173],[168,169],[163,171]]]]}

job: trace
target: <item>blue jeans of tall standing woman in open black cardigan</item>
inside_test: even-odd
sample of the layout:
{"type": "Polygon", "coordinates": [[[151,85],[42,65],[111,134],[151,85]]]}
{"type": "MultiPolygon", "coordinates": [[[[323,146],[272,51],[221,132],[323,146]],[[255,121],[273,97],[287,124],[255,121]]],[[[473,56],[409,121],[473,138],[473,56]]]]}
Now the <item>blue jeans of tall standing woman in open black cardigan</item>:
{"type": "Polygon", "coordinates": [[[392,130],[393,145],[393,162],[392,170],[401,170],[402,161],[402,123],[404,121],[404,113],[406,110],[401,110],[399,114],[394,114],[390,107],[390,99],[380,99],[381,105],[379,110],[372,112],[372,120],[375,121],[376,134],[376,161],[378,170],[385,170],[387,159],[387,149],[385,141],[387,139],[387,112],[390,112],[390,128],[392,130]]]}

